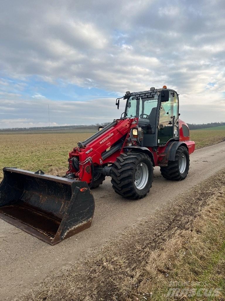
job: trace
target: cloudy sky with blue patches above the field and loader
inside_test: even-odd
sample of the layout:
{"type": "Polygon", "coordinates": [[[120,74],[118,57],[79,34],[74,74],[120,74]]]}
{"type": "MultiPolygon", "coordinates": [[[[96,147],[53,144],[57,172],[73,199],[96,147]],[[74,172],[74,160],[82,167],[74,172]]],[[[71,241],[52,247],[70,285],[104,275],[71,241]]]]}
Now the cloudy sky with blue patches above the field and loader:
{"type": "Polygon", "coordinates": [[[225,2],[1,2],[0,128],[120,117],[116,97],[167,85],[188,123],[225,121],[225,2]]]}

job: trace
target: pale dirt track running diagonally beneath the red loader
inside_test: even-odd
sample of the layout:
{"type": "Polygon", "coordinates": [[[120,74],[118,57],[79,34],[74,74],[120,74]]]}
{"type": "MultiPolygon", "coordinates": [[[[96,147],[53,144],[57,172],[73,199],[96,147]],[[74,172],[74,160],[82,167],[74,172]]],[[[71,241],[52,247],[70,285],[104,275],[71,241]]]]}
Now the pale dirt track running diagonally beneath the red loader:
{"type": "Polygon", "coordinates": [[[182,182],[164,180],[159,168],[155,168],[150,194],[139,201],[119,197],[108,178],[92,191],[96,207],[91,228],[53,247],[0,220],[0,300],[13,299],[32,288],[47,275],[78,259],[84,251],[98,247],[116,232],[225,167],[225,142],[197,150],[190,158],[189,175],[182,182]]]}

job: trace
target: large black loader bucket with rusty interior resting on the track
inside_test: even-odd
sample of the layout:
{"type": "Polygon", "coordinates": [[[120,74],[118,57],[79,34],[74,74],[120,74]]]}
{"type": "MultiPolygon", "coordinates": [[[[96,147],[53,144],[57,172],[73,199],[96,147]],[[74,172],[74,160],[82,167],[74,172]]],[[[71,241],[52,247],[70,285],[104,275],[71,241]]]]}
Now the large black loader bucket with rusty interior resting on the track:
{"type": "Polygon", "coordinates": [[[95,201],[86,182],[3,169],[0,218],[54,245],[91,226],[95,201]]]}

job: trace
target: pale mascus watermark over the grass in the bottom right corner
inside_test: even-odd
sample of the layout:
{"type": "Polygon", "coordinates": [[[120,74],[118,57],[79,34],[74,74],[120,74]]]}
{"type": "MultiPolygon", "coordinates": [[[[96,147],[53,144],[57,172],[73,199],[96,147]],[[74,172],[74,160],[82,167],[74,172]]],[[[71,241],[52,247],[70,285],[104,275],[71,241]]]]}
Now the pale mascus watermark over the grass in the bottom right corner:
{"type": "Polygon", "coordinates": [[[171,281],[167,298],[169,297],[218,297],[221,288],[212,288],[206,282],[191,282],[191,281],[171,281]]]}

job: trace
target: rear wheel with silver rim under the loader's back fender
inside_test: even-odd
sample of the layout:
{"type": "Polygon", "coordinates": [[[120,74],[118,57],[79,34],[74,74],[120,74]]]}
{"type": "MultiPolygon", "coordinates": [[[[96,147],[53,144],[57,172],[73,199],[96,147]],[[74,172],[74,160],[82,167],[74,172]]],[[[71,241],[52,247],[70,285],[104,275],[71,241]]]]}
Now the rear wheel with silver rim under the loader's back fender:
{"type": "Polygon", "coordinates": [[[161,166],[162,176],[167,180],[182,181],[187,177],[190,166],[188,150],[179,146],[174,161],[168,161],[168,166],[161,166]]]}

